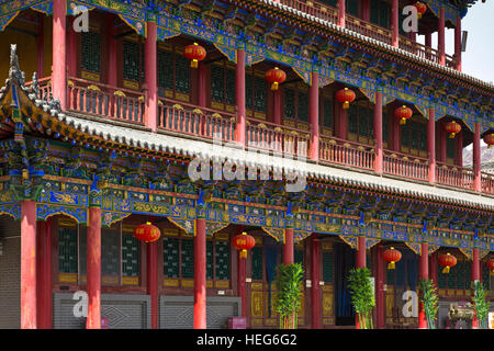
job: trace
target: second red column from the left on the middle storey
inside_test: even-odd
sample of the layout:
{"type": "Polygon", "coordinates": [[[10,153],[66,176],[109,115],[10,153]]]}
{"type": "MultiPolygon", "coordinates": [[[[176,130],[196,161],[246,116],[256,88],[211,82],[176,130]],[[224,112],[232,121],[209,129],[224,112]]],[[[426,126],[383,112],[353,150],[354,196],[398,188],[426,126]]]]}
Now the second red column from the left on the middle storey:
{"type": "Polygon", "coordinates": [[[157,30],[155,22],[147,22],[147,37],[145,43],[145,81],[147,86],[145,125],[156,132],[158,125],[158,78],[156,46],[157,30]]]}

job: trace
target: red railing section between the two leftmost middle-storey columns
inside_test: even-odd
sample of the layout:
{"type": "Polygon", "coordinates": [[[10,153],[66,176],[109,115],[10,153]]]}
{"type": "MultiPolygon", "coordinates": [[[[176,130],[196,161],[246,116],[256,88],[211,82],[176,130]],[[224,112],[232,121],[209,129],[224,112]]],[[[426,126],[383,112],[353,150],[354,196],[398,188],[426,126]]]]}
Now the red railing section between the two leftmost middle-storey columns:
{"type": "Polygon", "coordinates": [[[70,78],[67,107],[70,111],[144,124],[144,95],[134,90],[115,88],[70,78]]]}

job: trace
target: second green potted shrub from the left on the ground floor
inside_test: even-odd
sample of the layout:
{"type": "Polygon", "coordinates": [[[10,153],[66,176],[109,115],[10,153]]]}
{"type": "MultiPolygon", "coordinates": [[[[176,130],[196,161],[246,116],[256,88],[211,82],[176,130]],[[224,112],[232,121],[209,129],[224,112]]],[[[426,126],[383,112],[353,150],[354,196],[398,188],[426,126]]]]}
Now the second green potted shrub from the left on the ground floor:
{"type": "Polygon", "coordinates": [[[375,299],[368,268],[351,269],[348,275],[348,288],[351,304],[358,314],[360,329],[373,329],[372,308],[375,299]]]}

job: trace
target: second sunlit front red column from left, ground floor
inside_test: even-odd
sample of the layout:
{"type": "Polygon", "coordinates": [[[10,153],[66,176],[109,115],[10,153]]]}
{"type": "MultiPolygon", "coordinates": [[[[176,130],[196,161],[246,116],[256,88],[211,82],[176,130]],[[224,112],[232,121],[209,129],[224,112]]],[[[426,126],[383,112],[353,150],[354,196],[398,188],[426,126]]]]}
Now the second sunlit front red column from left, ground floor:
{"type": "Polygon", "coordinates": [[[89,207],[87,329],[101,329],[101,207],[89,207]]]}

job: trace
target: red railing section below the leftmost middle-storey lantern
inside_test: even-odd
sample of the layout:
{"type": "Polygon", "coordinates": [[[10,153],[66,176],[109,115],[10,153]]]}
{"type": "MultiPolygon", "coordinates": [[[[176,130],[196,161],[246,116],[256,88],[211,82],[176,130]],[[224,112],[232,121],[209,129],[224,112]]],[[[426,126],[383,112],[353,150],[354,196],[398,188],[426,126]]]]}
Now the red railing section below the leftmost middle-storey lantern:
{"type": "Polygon", "coordinates": [[[160,100],[158,106],[158,127],[166,131],[233,141],[235,126],[235,116],[225,112],[169,100],[160,100]]]}

